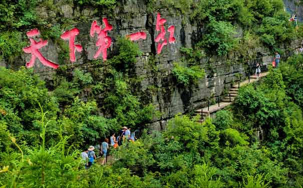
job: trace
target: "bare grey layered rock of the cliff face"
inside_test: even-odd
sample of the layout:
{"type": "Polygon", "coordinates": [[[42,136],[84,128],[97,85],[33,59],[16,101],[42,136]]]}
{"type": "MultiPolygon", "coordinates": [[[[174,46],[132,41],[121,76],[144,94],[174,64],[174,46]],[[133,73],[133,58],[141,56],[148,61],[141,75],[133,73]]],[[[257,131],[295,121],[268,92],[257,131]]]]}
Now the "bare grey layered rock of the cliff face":
{"type": "MultiPolygon", "coordinates": [[[[115,40],[119,36],[125,36],[131,33],[143,31],[147,33],[146,40],[139,40],[135,43],[140,47],[143,55],[137,58],[135,65],[135,75],[140,78],[141,83],[138,88],[134,89],[137,96],[141,98],[143,103],[152,103],[162,114],[160,119],[155,119],[151,127],[154,129],[163,129],[166,120],[173,117],[177,113],[190,112],[199,107],[205,106],[209,98],[222,95],[224,89],[228,89],[238,81],[235,76],[241,74],[244,79],[247,74],[254,72],[253,67],[256,62],[262,64],[262,69],[265,70],[268,65],[271,65],[272,53],[260,46],[257,49],[251,49],[250,52],[255,54],[254,58],[248,62],[243,62],[237,56],[236,52],[230,53],[228,57],[214,57],[206,54],[206,57],[201,61],[206,75],[196,85],[183,87],[176,83],[172,76],[173,62],[180,59],[180,48],[191,48],[199,36],[200,29],[194,23],[189,21],[189,18],[177,13],[169,13],[167,10],[160,10],[162,18],[167,20],[165,29],[171,25],[175,26],[176,42],[168,44],[162,50],[162,53],[156,55],[155,38],[158,35],[156,31],[156,16],[157,12],[148,13],[143,0],[122,1],[123,9],[116,10],[117,16],[96,16],[96,13],[91,8],[79,9],[73,5],[62,5],[62,19],[79,19],[73,26],[80,30],[80,34],[76,37],[76,44],[83,46],[81,53],[76,53],[77,61],[69,64],[69,67],[79,67],[82,70],[88,70],[92,66],[91,60],[97,50],[97,37],[90,37],[90,27],[94,20],[101,23],[102,18],[107,17],[109,23],[113,25],[113,30],[108,32],[108,36],[113,39],[113,45],[108,49],[110,56],[115,40]],[[185,21],[185,22],[184,22],[185,21]],[[151,56],[155,55],[154,61],[151,61],[151,56]],[[230,62],[229,60],[232,60],[230,62]],[[152,64],[152,65],[151,65],[152,64]]],[[[55,22],[56,14],[52,10],[40,8],[38,10],[41,17],[46,17],[49,22],[55,22]]],[[[63,32],[63,31],[62,31],[63,32]]],[[[169,33],[166,32],[166,38],[169,33]]],[[[236,37],[241,37],[242,30],[238,28],[236,37]]],[[[290,46],[281,47],[286,53],[292,53],[299,48],[300,41],[294,41],[290,46]]],[[[58,44],[49,40],[48,46],[41,50],[42,54],[53,62],[59,62],[58,44]]],[[[25,54],[14,66],[25,65],[29,61],[30,55],[25,54]]],[[[101,56],[99,57],[101,59],[101,56]]],[[[5,64],[4,62],[0,62],[5,64]]],[[[8,65],[7,65],[8,66],[8,65]]],[[[100,64],[102,66],[102,63],[100,64]]],[[[52,79],[55,70],[43,66],[36,60],[34,71],[39,73],[46,80],[52,79]]],[[[102,74],[102,73],[100,73],[102,74]]]]}

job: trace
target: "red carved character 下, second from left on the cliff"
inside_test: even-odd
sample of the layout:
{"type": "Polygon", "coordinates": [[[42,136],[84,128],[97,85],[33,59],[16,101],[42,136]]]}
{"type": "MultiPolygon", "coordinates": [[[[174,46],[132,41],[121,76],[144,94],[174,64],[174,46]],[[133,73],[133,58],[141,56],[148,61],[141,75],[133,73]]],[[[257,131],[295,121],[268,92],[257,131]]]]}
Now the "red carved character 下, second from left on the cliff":
{"type": "Polygon", "coordinates": [[[82,46],[81,45],[75,45],[75,39],[76,36],[79,35],[79,30],[77,28],[71,29],[69,31],[64,32],[61,35],[61,39],[63,40],[69,40],[69,49],[70,49],[70,60],[71,62],[76,61],[75,53],[76,51],[81,52],[82,46]]]}

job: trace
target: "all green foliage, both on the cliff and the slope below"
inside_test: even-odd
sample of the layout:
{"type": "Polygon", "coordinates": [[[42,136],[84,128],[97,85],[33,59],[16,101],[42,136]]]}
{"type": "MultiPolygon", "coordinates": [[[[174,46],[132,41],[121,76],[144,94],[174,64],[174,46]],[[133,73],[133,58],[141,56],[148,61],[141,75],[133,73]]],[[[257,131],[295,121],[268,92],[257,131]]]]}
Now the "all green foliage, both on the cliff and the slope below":
{"type": "MultiPolygon", "coordinates": [[[[62,14],[59,5],[113,12],[117,2],[2,1],[1,57],[20,56],[26,46],[22,33],[29,27],[37,26],[42,38],[56,41],[82,19],[56,17],[62,14]],[[54,11],[56,24],[37,16],[38,3],[54,11]]],[[[200,31],[193,48],[180,49],[180,63],[172,69],[177,83],[184,86],[204,78],[200,61],[206,54],[236,50],[249,59],[247,51],[261,43],[278,50],[299,35],[288,23],[281,0],[145,2],[150,13],[166,8],[189,14],[200,31]],[[235,30],[239,27],[243,35],[238,41],[235,30]]],[[[81,70],[76,64],[64,66],[68,48],[57,43],[62,66],[52,81],[40,80],[32,69],[0,68],[1,188],[302,187],[301,55],[271,69],[261,81],[240,88],[232,107],[217,112],[213,119],[197,123],[187,115],[176,115],[165,131],[147,134],[145,130],[137,141],[111,150],[112,163],[97,163],[87,170],[80,161],[80,149],[98,144],[122,126],[144,129],[157,112],[134,94],[140,84],[133,72],[141,54],[137,45],[117,38],[108,61],[89,61],[87,69],[81,70]]],[[[150,56],[151,63],[154,59],[150,56]]]]}

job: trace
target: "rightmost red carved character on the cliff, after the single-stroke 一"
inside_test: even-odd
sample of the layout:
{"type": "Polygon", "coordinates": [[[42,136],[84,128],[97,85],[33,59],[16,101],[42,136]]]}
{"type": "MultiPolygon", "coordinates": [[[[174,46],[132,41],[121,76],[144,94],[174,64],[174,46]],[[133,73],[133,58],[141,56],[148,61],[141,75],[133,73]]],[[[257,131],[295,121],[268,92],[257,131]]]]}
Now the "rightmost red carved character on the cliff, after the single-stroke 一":
{"type": "MultiPolygon", "coordinates": [[[[166,23],[166,20],[161,19],[161,15],[160,15],[160,13],[158,13],[157,20],[156,20],[156,30],[158,32],[160,31],[160,33],[155,39],[155,42],[158,43],[157,54],[160,54],[162,51],[162,48],[165,45],[167,45],[167,40],[165,39],[165,34],[166,34],[165,28],[164,28],[165,23],[166,23]],[[163,43],[160,43],[160,41],[163,41],[163,43]]],[[[168,32],[169,32],[169,38],[168,38],[169,44],[174,43],[176,41],[176,39],[174,37],[175,26],[170,26],[168,28],[168,32]]]]}

